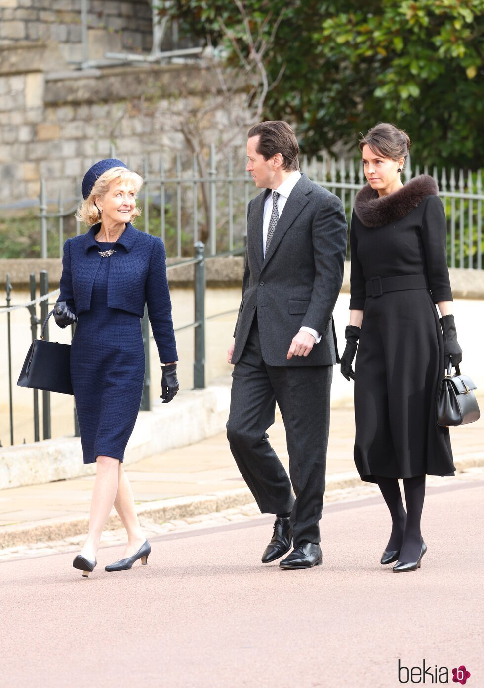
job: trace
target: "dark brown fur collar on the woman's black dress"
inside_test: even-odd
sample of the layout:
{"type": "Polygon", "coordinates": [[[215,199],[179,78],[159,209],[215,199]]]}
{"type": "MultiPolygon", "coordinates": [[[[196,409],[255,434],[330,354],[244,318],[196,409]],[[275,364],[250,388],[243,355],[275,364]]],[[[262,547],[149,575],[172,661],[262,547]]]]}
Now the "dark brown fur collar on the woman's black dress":
{"type": "Polygon", "coordinates": [[[355,195],[355,213],[365,227],[383,227],[406,217],[426,196],[438,193],[435,180],[428,175],[410,180],[403,189],[388,196],[380,197],[366,184],[355,195]]]}

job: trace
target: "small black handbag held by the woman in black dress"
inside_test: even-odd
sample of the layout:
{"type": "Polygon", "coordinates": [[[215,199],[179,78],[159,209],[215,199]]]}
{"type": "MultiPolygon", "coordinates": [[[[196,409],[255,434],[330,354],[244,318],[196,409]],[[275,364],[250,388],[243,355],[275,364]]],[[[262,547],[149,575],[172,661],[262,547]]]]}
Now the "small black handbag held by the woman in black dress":
{"type": "Polygon", "coordinates": [[[451,371],[452,363],[449,363],[437,394],[437,424],[445,427],[472,423],[481,416],[474,396],[476,385],[469,376],[461,375],[459,365],[456,365],[454,375],[450,374],[451,371]]]}

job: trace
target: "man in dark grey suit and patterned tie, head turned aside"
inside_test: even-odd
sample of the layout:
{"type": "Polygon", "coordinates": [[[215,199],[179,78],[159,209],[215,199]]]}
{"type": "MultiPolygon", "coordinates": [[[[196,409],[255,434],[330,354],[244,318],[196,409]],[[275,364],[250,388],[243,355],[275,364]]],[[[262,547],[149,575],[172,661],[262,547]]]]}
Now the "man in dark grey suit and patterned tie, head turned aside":
{"type": "Polygon", "coordinates": [[[246,169],[264,191],[248,206],[242,301],[228,350],[230,450],[261,511],[276,515],[262,561],[287,554],[294,538],[279,563],[292,569],[322,563],[318,522],[339,361],[331,314],[347,248],[340,199],[300,174],[298,153],[286,122],[262,122],[248,133],[246,169]],[[266,433],[276,402],[291,480],[266,433]]]}

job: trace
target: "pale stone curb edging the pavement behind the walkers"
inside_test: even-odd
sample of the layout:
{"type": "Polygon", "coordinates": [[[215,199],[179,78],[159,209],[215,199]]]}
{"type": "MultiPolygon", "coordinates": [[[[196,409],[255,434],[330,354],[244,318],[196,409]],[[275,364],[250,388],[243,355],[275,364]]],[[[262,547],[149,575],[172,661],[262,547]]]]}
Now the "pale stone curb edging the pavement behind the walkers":
{"type": "MultiPolygon", "coordinates": [[[[484,466],[484,452],[472,453],[462,460],[455,460],[454,464],[458,472],[465,471],[474,466],[484,466]]],[[[327,476],[326,491],[331,493],[361,486],[362,481],[358,474],[335,473],[327,476]]],[[[228,508],[252,504],[254,497],[248,488],[224,490],[207,495],[195,495],[190,497],[175,497],[173,499],[159,499],[155,502],[145,502],[137,509],[141,519],[149,519],[153,522],[168,522],[176,519],[186,519],[203,514],[216,513],[228,508]]],[[[117,515],[111,515],[107,522],[106,530],[120,528],[120,520],[117,515]]],[[[21,526],[5,526],[0,533],[0,549],[33,544],[35,542],[48,542],[63,540],[66,537],[83,535],[89,527],[89,515],[83,517],[48,519],[45,522],[24,523],[21,526]]]]}

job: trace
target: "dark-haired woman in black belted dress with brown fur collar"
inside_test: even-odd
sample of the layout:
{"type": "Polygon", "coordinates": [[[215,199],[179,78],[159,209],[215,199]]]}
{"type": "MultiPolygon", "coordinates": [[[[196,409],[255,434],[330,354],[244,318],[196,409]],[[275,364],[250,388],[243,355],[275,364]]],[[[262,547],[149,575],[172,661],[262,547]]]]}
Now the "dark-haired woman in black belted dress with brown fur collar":
{"type": "Polygon", "coordinates": [[[445,213],[431,177],[401,183],[409,147],[406,133],[386,123],[360,141],[369,184],[351,217],[351,314],[341,359],[342,374],[355,380],[355,464],[390,510],[381,563],[397,561],[394,572],[417,570],[427,549],[420,530],[426,475],[454,475],[449,431],[437,425],[435,407],[448,361],[462,359],[445,213]]]}

